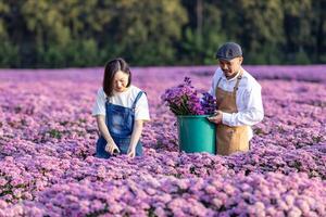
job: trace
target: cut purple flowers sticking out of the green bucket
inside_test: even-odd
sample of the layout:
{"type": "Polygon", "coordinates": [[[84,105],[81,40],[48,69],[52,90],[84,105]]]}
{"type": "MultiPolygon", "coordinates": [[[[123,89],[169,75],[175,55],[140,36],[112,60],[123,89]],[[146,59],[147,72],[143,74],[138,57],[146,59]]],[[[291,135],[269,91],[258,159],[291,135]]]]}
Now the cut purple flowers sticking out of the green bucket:
{"type": "Polygon", "coordinates": [[[212,115],[216,108],[216,100],[210,93],[202,97],[191,86],[189,77],[181,85],[166,89],[162,100],[175,115],[212,115]]]}

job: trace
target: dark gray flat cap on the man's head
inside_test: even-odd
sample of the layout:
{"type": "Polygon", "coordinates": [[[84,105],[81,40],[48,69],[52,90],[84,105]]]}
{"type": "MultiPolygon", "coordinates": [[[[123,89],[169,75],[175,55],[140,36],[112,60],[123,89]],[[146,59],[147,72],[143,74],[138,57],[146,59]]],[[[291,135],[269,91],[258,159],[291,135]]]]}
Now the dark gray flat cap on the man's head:
{"type": "Polygon", "coordinates": [[[216,52],[216,59],[230,61],[235,58],[242,56],[241,47],[235,42],[226,42],[221,46],[216,52]]]}

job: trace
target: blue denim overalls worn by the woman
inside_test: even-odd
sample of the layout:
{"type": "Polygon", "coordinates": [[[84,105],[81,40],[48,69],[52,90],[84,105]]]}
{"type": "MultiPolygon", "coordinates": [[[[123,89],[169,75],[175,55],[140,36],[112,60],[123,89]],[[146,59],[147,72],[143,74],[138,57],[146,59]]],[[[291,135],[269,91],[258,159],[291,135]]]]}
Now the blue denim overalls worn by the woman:
{"type": "MultiPolygon", "coordinates": [[[[130,138],[134,129],[135,122],[135,108],[136,103],[140,99],[142,91],[140,91],[131,107],[124,107],[121,105],[115,105],[109,102],[106,99],[105,102],[105,124],[109,129],[109,132],[114,140],[115,144],[120,149],[121,154],[127,154],[130,138]]],[[[109,158],[111,154],[105,151],[106,140],[103,136],[97,141],[97,152],[96,156],[99,158],[109,158]]],[[[142,155],[142,145],[141,142],[138,141],[136,145],[136,156],[142,155]]]]}

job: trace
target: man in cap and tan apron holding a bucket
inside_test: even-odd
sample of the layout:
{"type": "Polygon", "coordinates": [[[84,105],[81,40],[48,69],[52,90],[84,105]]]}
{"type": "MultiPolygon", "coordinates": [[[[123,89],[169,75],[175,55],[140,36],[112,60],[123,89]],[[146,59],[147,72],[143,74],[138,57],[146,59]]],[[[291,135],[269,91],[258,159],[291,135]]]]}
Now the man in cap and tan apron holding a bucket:
{"type": "Polygon", "coordinates": [[[242,67],[242,50],[235,42],[223,44],[216,53],[220,67],[210,94],[216,97],[217,111],[209,120],[216,127],[216,152],[229,155],[249,150],[251,126],[261,122],[264,110],[260,84],[242,67]]]}

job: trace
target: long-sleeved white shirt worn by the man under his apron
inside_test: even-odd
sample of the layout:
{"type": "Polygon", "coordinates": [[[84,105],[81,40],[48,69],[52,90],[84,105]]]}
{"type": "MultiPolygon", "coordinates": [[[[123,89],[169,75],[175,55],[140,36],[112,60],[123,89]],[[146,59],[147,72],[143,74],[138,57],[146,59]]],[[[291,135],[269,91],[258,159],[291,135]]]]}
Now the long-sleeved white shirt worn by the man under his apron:
{"type": "MultiPolygon", "coordinates": [[[[225,91],[233,92],[237,82],[239,74],[231,78],[226,79],[223,71],[218,67],[215,71],[213,77],[212,87],[209,91],[211,95],[215,97],[216,86],[221,79],[218,87],[225,91]]],[[[264,108],[261,94],[261,85],[243,69],[242,78],[239,82],[237,90],[236,104],[238,113],[223,113],[222,122],[228,126],[252,126],[260,123],[264,117],[264,108]]],[[[250,127],[249,138],[251,139],[253,133],[250,127]]]]}

